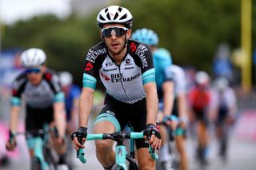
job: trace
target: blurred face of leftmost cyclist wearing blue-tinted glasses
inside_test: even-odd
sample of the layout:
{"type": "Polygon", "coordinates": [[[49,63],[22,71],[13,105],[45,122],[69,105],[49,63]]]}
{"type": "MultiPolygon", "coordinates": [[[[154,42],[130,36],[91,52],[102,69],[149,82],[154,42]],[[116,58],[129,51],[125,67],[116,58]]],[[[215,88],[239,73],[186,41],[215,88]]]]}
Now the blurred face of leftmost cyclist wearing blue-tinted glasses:
{"type": "Polygon", "coordinates": [[[26,76],[28,77],[32,85],[39,85],[39,83],[42,81],[42,75],[45,72],[45,70],[45,66],[26,69],[26,76]]]}

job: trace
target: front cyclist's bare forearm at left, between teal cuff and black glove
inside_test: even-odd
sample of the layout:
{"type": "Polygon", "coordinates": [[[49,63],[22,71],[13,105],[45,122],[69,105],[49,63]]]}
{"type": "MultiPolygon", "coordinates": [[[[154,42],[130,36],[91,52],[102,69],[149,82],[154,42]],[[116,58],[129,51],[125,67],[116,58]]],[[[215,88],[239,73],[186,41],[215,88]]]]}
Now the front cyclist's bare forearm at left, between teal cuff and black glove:
{"type": "Polygon", "coordinates": [[[84,88],[78,106],[78,127],[87,127],[94,100],[94,89],[84,88]]]}

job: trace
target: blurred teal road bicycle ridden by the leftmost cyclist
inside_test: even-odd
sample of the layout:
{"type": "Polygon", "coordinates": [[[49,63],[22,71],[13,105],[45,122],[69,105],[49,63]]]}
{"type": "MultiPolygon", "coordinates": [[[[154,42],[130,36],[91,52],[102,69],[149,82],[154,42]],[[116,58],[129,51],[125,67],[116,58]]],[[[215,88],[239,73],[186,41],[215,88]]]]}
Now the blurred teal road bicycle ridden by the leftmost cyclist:
{"type": "MultiPolygon", "coordinates": [[[[58,129],[44,125],[42,129],[33,129],[26,132],[16,132],[14,136],[25,135],[29,148],[34,150],[31,158],[32,170],[54,170],[57,169],[58,162],[50,148],[50,134],[58,137],[58,129]]],[[[13,140],[13,138],[10,138],[13,140]]]]}

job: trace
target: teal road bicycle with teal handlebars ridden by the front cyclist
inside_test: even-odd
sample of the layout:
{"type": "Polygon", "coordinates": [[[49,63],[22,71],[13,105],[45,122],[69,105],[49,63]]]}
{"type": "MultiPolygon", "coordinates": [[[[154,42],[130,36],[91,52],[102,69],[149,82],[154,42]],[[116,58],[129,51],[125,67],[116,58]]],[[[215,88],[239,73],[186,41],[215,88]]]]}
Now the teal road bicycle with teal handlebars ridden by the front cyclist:
{"type": "MultiPolygon", "coordinates": [[[[131,128],[132,129],[132,128],[131,128]]],[[[113,133],[98,133],[87,134],[86,140],[114,140],[117,142],[115,146],[115,164],[112,170],[138,170],[138,165],[134,160],[134,140],[142,139],[146,135],[142,132],[113,132],[113,133]],[[126,146],[123,144],[124,140],[130,140],[130,152],[126,152],[126,146]],[[127,162],[126,162],[127,160],[127,162]]],[[[154,160],[158,160],[158,154],[149,144],[150,156],[154,160]]],[[[77,158],[86,164],[86,157],[83,148],[79,148],[77,158]]]]}

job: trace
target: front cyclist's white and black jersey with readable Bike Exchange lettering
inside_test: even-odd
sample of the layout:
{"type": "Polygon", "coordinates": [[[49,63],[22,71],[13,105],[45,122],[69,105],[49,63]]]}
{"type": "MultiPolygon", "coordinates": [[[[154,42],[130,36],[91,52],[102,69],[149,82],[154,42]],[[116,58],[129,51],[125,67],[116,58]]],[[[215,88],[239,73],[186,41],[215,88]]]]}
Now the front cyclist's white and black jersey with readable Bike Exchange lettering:
{"type": "Polygon", "coordinates": [[[86,55],[83,87],[95,89],[98,76],[111,97],[129,104],[141,101],[146,97],[143,85],[155,81],[150,48],[128,40],[126,55],[117,65],[104,42],[95,45],[86,55]]]}

